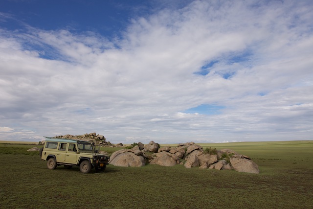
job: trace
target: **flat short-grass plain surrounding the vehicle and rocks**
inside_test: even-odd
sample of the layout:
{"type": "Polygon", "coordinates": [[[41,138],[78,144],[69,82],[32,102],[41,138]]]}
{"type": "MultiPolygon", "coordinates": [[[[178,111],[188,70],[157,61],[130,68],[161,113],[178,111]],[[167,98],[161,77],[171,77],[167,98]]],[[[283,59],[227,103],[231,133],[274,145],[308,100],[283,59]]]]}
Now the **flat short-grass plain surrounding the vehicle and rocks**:
{"type": "MultiPolygon", "coordinates": [[[[1,209],[309,209],[313,208],[313,141],[199,144],[229,148],[260,174],[228,170],[116,167],[83,174],[49,170],[34,145],[0,143],[1,209]]],[[[120,148],[102,148],[109,153],[120,148]]]]}

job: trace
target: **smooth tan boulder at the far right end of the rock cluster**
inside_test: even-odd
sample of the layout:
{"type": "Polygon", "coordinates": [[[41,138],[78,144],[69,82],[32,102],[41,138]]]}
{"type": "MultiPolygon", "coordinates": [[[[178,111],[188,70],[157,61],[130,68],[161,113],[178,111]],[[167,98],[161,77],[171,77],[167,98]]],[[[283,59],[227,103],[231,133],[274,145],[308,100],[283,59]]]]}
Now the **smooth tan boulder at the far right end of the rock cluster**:
{"type": "Polygon", "coordinates": [[[251,160],[246,158],[230,158],[229,160],[234,170],[238,172],[260,173],[258,165],[251,160]]]}

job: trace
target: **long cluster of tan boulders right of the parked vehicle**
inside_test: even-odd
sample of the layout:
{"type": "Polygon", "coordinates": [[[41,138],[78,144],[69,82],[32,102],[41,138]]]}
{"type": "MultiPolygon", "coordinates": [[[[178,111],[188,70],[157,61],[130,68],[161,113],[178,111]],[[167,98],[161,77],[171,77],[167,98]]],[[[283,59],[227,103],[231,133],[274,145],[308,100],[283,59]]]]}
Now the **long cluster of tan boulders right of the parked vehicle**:
{"type": "Polygon", "coordinates": [[[121,149],[112,153],[110,164],[124,167],[140,167],[147,163],[162,166],[183,164],[186,168],[234,169],[238,172],[256,174],[260,172],[258,165],[245,155],[230,149],[215,151],[214,154],[208,153],[194,142],[180,143],[177,147],[159,147],[154,141],[150,141],[149,144],[139,142],[132,149],[121,149]]]}

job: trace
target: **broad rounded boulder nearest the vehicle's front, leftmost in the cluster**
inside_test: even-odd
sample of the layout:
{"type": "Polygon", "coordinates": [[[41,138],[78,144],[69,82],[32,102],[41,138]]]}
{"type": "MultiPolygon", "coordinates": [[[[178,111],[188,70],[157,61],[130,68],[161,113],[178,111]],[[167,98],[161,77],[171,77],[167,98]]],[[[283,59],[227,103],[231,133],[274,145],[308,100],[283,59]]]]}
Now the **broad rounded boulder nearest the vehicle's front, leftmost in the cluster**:
{"type": "Polygon", "coordinates": [[[128,149],[122,149],[111,155],[110,164],[121,167],[141,167],[146,164],[146,161],[141,155],[136,155],[128,149]]]}

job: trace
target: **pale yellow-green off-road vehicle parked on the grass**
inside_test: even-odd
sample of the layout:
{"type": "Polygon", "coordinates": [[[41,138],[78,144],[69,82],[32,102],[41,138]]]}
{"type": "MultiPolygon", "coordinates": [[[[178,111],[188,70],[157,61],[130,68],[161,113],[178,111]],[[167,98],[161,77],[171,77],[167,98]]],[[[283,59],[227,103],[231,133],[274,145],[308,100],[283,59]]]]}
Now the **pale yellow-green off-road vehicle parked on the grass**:
{"type": "Polygon", "coordinates": [[[57,139],[45,137],[44,147],[40,150],[41,159],[47,161],[49,169],[58,165],[71,168],[77,165],[83,173],[89,173],[92,168],[104,171],[109,164],[110,157],[99,154],[98,149],[89,141],[74,139],[57,139]]]}

